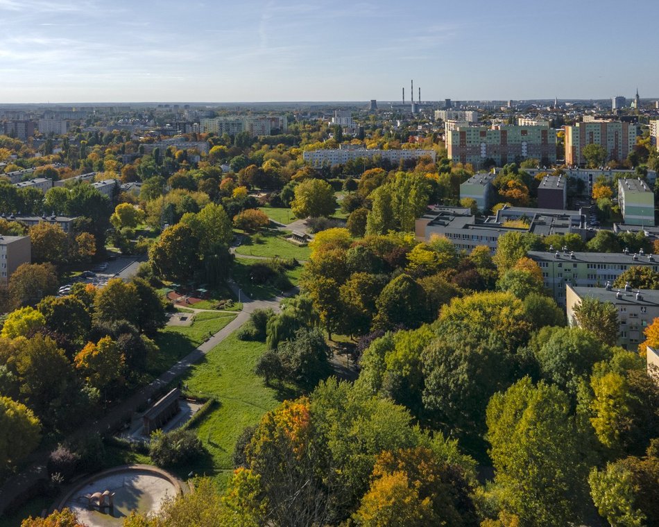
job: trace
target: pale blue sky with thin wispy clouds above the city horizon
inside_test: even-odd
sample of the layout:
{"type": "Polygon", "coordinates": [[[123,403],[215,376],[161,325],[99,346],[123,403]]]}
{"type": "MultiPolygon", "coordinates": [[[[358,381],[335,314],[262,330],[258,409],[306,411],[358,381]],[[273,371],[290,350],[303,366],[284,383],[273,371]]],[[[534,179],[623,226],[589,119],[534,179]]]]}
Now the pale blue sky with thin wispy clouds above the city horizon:
{"type": "Polygon", "coordinates": [[[659,97],[656,0],[0,0],[0,104],[659,97]],[[647,22],[646,22],[647,21],[647,22]]]}

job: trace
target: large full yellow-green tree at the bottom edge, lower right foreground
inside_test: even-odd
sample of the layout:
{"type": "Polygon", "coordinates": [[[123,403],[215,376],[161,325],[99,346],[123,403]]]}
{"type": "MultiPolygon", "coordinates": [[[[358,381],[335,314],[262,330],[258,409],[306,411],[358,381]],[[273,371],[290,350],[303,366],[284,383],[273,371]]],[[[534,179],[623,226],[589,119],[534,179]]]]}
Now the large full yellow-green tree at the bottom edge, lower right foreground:
{"type": "Polygon", "coordinates": [[[581,517],[587,467],[567,395],[524,377],[493,395],[487,439],[504,510],[528,525],[567,525],[581,517]]]}

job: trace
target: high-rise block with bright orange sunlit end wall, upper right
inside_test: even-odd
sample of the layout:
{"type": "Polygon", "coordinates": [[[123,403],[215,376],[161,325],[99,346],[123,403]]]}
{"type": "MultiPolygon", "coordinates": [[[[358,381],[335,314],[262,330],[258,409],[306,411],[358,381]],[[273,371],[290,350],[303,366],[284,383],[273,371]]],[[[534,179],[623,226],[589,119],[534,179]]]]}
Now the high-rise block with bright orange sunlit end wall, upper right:
{"type": "Polygon", "coordinates": [[[565,163],[585,166],[583,148],[599,144],[606,148],[608,159],[623,161],[636,144],[637,126],[617,121],[576,123],[565,127],[565,163]]]}

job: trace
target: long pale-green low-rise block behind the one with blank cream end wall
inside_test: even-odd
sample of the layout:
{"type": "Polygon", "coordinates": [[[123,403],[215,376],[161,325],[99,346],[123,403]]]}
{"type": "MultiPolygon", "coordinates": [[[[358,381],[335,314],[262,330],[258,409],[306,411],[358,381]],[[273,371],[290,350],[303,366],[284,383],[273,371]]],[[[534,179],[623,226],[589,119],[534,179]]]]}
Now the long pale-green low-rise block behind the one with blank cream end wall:
{"type": "Polygon", "coordinates": [[[565,306],[565,286],[604,287],[613,284],[628,268],[647,266],[659,271],[659,257],[652,254],[620,254],[609,252],[567,252],[556,248],[551,251],[529,251],[527,256],[540,266],[545,287],[554,300],[565,306]]]}

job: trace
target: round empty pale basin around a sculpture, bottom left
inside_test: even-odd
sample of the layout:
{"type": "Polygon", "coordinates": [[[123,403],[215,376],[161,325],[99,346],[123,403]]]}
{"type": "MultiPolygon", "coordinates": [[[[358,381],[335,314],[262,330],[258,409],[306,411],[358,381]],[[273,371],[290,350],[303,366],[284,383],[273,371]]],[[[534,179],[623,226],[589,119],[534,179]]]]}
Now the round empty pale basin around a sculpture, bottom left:
{"type": "Polygon", "coordinates": [[[173,476],[148,465],[132,465],[87,478],[69,492],[58,508],[68,507],[80,523],[89,527],[114,527],[121,526],[123,518],[133,510],[157,513],[163,501],[178,494],[180,485],[173,476]],[[114,506],[102,510],[90,507],[85,495],[105,490],[114,492],[114,506]]]}

